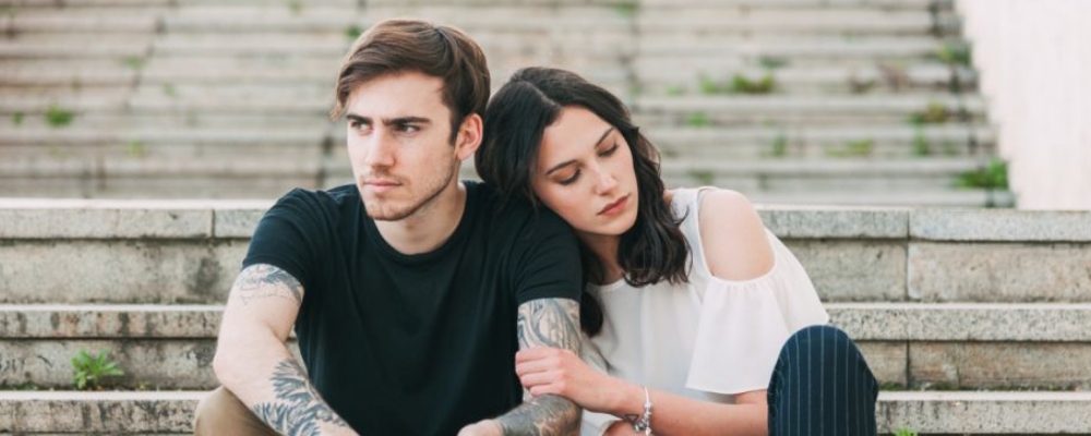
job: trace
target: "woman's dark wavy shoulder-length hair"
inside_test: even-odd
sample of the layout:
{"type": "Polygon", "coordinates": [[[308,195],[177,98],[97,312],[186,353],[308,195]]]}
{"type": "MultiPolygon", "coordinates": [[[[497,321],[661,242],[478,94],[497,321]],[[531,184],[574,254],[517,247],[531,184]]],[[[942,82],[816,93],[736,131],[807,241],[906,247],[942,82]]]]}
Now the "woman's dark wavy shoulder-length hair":
{"type": "MultiPolygon", "coordinates": [[[[478,174],[495,186],[504,198],[523,196],[536,207],[539,202],[530,183],[537,166],[538,148],[546,128],[561,109],[586,108],[618,129],[633,153],[639,195],[636,223],[621,237],[618,262],[625,281],[634,287],[688,281],[690,246],[679,229],[671,206],[663,199],[659,152],[633,125],[628,110],[610,92],[576,73],[551,68],[526,68],[489,101],[484,116],[484,137],[475,156],[478,174]]],[[[601,282],[602,268],[595,255],[580,244],[585,282],[601,282]]],[[[602,306],[584,291],[580,324],[589,336],[602,329],[602,306]]]]}

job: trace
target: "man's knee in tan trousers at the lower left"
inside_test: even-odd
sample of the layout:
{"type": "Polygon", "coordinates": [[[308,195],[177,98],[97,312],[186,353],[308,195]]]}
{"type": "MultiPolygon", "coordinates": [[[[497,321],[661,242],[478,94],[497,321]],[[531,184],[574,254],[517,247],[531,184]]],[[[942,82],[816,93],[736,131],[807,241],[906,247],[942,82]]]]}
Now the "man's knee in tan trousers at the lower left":
{"type": "Polygon", "coordinates": [[[201,399],[193,414],[193,434],[215,435],[275,435],[245,404],[224,387],[216,388],[201,399]]]}

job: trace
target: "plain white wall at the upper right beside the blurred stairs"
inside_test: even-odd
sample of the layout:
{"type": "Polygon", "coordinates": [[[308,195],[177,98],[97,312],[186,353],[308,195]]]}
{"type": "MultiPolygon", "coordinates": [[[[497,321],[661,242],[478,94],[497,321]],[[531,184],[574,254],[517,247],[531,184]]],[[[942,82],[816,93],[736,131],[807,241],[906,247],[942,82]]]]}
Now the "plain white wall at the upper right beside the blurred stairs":
{"type": "Polygon", "coordinates": [[[1091,0],[957,0],[1026,209],[1091,209],[1091,0]]]}

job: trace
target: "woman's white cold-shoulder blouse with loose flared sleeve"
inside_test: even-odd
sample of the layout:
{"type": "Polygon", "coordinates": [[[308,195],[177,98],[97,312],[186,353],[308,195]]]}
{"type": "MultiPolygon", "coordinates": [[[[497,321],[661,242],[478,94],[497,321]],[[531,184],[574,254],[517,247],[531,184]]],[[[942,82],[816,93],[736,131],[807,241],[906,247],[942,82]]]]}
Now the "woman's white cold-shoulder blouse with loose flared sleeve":
{"type": "MultiPolygon", "coordinates": [[[[803,266],[768,230],[775,257],[768,272],[746,281],[712,277],[698,222],[703,190],[674,190],[671,201],[675,216],[685,217],[690,281],[588,286],[604,320],[599,335],[585,338],[583,358],[650,389],[731,403],[735,393],[766,389],[788,338],[829,316],[803,266]]],[[[598,436],[615,420],[585,412],[582,435],[598,436]]]]}

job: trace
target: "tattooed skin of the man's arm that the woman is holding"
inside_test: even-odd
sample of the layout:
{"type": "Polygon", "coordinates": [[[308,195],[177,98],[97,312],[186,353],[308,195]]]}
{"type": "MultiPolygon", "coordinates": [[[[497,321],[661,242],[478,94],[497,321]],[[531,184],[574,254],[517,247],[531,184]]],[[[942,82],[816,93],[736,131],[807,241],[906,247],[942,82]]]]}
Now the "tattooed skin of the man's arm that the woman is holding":
{"type": "MultiPolygon", "coordinates": [[[[579,304],[564,299],[532,300],[519,306],[520,348],[553,347],[579,353],[579,304]]],[[[530,399],[496,419],[504,436],[579,434],[580,410],[564,397],[530,399]]]]}

